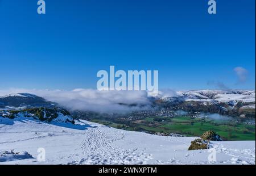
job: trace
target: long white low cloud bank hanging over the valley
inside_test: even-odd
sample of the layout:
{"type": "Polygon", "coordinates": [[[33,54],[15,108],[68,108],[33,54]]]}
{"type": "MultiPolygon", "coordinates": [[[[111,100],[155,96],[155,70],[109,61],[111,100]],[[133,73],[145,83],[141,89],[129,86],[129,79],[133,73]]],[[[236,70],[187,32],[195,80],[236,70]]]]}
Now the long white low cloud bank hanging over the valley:
{"type": "Polygon", "coordinates": [[[13,93],[30,93],[48,101],[59,103],[69,110],[96,112],[129,112],[147,110],[151,102],[146,91],[98,91],[94,89],[36,90],[9,89],[0,90],[0,96],[13,93]]]}

